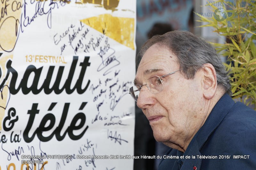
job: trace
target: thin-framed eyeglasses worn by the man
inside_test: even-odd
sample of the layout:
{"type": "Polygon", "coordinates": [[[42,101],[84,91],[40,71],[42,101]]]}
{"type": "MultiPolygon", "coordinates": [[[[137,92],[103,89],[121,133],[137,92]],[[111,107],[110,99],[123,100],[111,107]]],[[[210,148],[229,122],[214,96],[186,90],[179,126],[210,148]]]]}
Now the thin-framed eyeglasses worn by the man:
{"type": "MultiPolygon", "coordinates": [[[[180,70],[182,70],[182,69],[180,69],[180,70]]],[[[177,71],[180,71],[180,70],[177,70],[177,71]]],[[[163,91],[163,89],[164,89],[162,78],[164,78],[168,75],[174,74],[177,71],[174,71],[174,72],[169,73],[169,74],[162,75],[161,77],[158,77],[157,75],[155,75],[153,77],[150,77],[146,80],[146,84],[142,84],[140,86],[139,85],[132,86],[129,90],[129,94],[131,94],[132,98],[136,102],[138,100],[138,97],[139,97],[139,94],[140,94],[140,89],[142,88],[142,86],[146,86],[151,93],[157,94],[157,93],[163,91]]]]}

